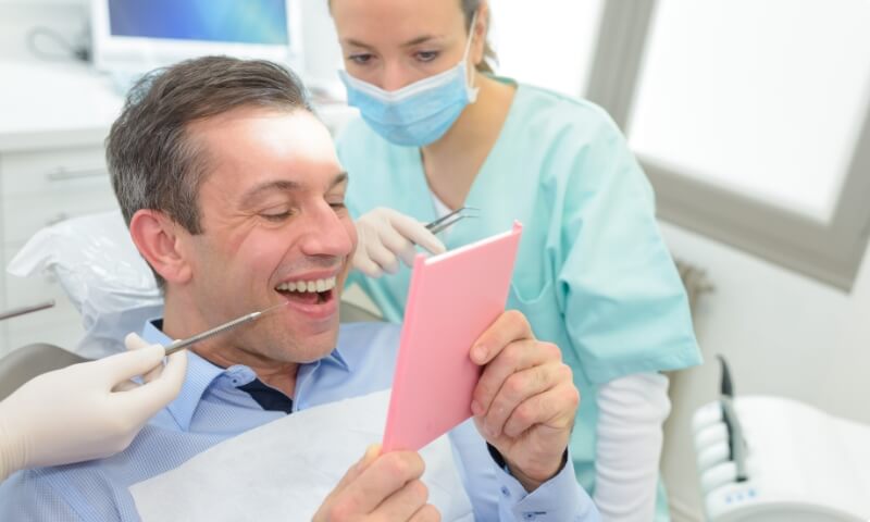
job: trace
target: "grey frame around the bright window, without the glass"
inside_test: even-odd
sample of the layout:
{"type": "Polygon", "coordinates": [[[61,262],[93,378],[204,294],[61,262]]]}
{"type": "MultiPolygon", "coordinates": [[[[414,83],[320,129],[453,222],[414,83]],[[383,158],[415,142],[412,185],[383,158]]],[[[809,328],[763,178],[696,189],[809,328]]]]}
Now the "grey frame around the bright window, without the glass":
{"type": "MultiPolygon", "coordinates": [[[[656,0],[608,0],[585,97],[627,134],[656,0]]],[[[870,87],[870,86],[869,86],[870,87]]],[[[829,223],[638,154],[660,219],[850,291],[870,236],[870,101],[829,223]]]]}

